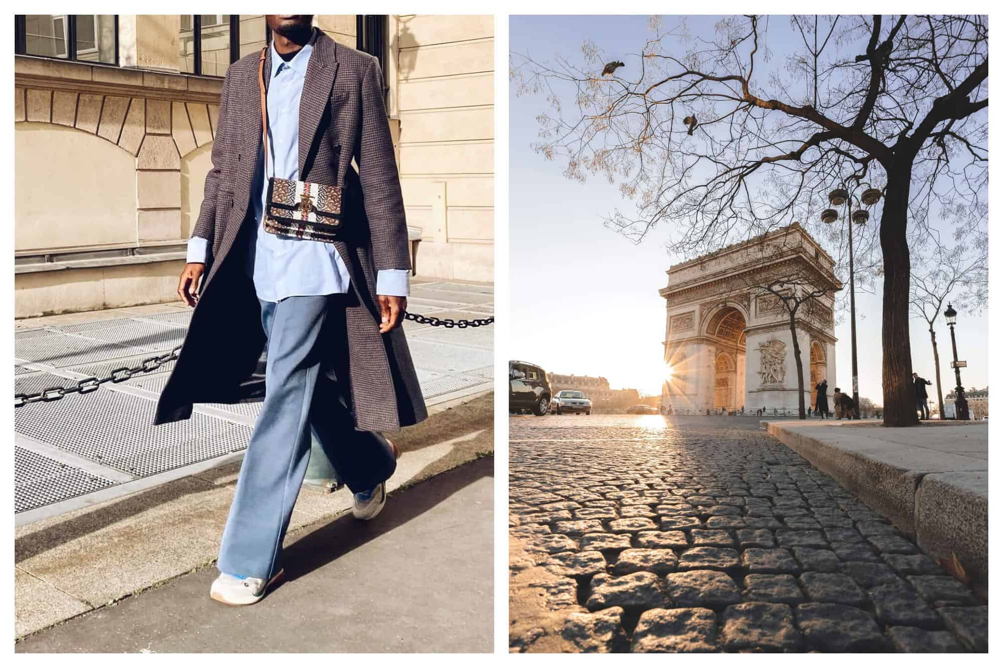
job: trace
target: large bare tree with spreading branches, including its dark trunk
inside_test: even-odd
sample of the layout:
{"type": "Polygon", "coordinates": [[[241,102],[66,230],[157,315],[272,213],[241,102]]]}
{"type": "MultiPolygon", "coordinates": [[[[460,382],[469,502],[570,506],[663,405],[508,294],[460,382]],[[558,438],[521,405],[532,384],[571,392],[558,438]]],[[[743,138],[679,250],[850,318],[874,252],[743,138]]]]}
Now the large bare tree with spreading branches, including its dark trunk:
{"type": "Polygon", "coordinates": [[[885,424],[915,424],[910,246],[929,236],[931,210],[958,238],[985,220],[987,19],[793,21],[803,44],[786,71],[768,69],[768,18],[729,16],[704,37],[653,20],[640,52],[615,54],[627,65],[607,76],[591,42],[581,64],[516,54],[512,72],[518,93],[553,106],[540,116],[538,150],[564,160],[571,179],[619,183],[636,215],[616,211],[607,224],[636,241],[671,223],[671,247],[692,255],[794,221],[816,230],[834,186],[881,190],[872,239],[882,256],[885,424]],[[667,46],[676,39],[683,48],[667,46]]]}

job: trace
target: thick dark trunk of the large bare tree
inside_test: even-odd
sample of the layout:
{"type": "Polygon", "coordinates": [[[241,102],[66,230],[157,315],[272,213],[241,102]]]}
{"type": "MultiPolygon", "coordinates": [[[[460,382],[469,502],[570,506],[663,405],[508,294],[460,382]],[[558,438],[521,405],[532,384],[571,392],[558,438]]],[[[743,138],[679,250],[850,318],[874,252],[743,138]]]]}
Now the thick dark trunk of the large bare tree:
{"type": "Polygon", "coordinates": [[[885,263],[882,314],[882,388],[885,426],[919,424],[909,345],[909,244],[906,240],[912,160],[902,159],[888,173],[881,249],[885,263]]]}

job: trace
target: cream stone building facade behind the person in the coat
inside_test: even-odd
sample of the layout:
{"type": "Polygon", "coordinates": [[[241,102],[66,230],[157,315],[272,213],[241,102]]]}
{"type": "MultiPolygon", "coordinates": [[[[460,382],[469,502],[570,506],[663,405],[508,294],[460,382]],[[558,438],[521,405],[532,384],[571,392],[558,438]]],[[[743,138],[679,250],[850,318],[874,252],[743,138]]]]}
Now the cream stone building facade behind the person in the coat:
{"type": "MultiPolygon", "coordinates": [[[[315,22],[355,48],[360,18],[315,22]]],[[[493,19],[380,19],[415,272],[491,281],[493,19]]],[[[223,75],[266,44],[264,16],[15,24],[15,317],[177,300],[223,75]]]]}

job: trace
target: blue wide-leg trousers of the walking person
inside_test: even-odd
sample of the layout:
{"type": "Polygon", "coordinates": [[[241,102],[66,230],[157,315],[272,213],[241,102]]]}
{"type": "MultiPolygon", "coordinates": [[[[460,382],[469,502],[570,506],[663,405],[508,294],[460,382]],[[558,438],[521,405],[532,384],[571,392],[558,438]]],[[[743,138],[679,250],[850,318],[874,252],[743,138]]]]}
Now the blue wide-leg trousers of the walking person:
{"type": "Polygon", "coordinates": [[[282,542],[310,459],[311,432],[353,492],[390,477],[397,462],[381,434],[354,428],[345,296],[261,301],[261,320],[268,338],[265,400],[241,464],[219,569],[269,579],[281,568],[282,542]],[[334,381],[322,373],[331,360],[345,377],[334,381]]]}

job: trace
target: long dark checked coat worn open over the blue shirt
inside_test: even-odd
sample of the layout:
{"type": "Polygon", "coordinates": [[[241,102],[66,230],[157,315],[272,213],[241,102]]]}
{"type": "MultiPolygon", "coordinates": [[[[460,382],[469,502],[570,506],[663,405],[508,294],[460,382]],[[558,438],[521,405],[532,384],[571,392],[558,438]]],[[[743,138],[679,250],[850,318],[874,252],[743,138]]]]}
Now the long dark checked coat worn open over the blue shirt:
{"type": "MultiPolygon", "coordinates": [[[[267,53],[265,72],[270,72],[271,49],[267,53]]],[[[261,197],[251,192],[262,144],[258,58],[255,52],[235,62],[223,83],[213,169],[194,230],[210,240],[210,257],[154,424],[190,417],[193,403],[236,403],[264,395],[266,340],[245,268],[248,233],[259,224],[248,217],[251,198],[261,197]]],[[[335,247],[351,276],[347,331],[344,338],[325,343],[348,342],[356,428],[388,431],[414,424],[426,412],[403,328],[381,335],[378,325],[376,272],[410,267],[382,74],[374,57],[320,31],[300,103],[299,168],[302,181],[346,189],[347,236],[335,247]]],[[[333,366],[326,366],[332,376],[333,366]]]]}

